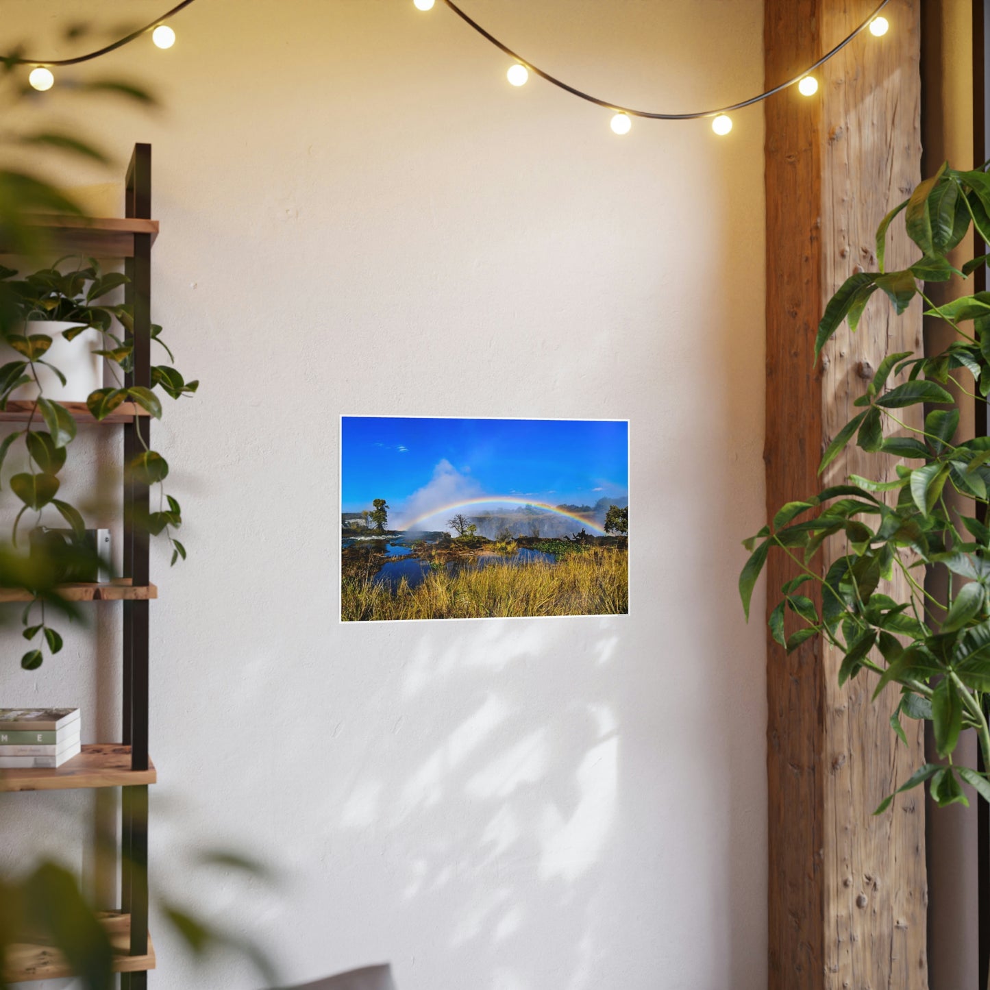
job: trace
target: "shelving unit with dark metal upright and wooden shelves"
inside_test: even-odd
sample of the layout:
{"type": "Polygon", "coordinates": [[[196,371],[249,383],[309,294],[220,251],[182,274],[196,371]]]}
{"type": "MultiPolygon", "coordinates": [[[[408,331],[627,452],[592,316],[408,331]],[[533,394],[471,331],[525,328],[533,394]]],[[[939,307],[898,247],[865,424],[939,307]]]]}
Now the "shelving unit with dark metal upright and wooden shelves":
{"type": "MultiPolygon", "coordinates": [[[[39,216],[52,248],[100,258],[124,258],[131,279],[125,299],[134,308],[134,370],[128,386],[150,388],[151,245],[158,223],[151,220],[151,146],[136,145],[127,170],[123,218],[80,219],[39,216]]],[[[2,251],[0,251],[2,252],[2,251]]],[[[64,403],[80,425],[118,425],[123,433],[124,462],[150,444],[150,418],[133,403],[120,406],[102,421],[85,403],[64,403]]],[[[32,403],[10,402],[0,423],[25,422],[32,403]]],[[[123,578],[109,584],[69,584],[61,593],[74,602],[121,602],[124,625],[123,739],[120,743],[84,745],[82,752],[57,769],[8,770],[0,773],[0,792],[54,791],[89,787],[121,788],[121,905],[105,912],[114,947],[114,969],[121,990],[145,990],[154,949],[148,935],[148,785],[157,779],[148,757],[148,602],[157,588],[148,579],[148,533],[130,520],[148,513],[148,486],[124,482],[123,578]]],[[[0,588],[0,603],[30,601],[22,589],[0,588]]],[[[70,976],[64,959],[50,945],[25,943],[8,953],[4,976],[10,982],[70,976]]]]}

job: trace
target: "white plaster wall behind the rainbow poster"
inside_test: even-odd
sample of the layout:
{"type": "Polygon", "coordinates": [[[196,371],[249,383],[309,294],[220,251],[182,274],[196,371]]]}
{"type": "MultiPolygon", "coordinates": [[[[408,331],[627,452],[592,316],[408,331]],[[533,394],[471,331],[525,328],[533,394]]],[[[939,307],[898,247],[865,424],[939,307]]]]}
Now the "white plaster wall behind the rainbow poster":
{"type": "MultiPolygon", "coordinates": [[[[757,0],[464,5],[610,99],[760,88],[757,0]]],[[[4,41],[78,15],[4,8],[4,41]]],[[[618,139],[406,0],[203,0],[174,27],[84,70],[165,103],[86,126],[153,143],[154,316],[203,381],[157,429],[190,558],[153,560],[152,884],[291,980],[389,959],[400,990],[764,987],[763,629],[736,594],[763,518],[759,110],[723,141],[618,139]],[[628,418],[631,615],[339,625],[342,412],[628,418]],[[196,868],[212,842],[277,890],[196,868]]],[[[8,636],[0,703],[80,703],[112,736],[110,642],[28,674],[8,636]]],[[[69,838],[92,802],[5,800],[0,858],[92,875],[69,838]]],[[[153,931],[151,986],[257,985],[153,931]]]]}

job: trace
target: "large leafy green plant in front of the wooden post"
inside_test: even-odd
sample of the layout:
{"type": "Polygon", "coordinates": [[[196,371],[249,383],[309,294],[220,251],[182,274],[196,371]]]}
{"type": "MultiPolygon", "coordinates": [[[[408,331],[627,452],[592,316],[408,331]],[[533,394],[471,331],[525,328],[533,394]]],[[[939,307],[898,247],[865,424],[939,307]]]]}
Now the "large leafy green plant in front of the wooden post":
{"type": "MultiPolygon", "coordinates": [[[[983,766],[990,768],[990,437],[956,440],[959,409],[945,387],[951,384],[970,401],[986,401],[990,393],[990,292],[937,306],[926,295],[925,283],[946,282],[953,275],[968,278],[990,262],[990,254],[983,254],[960,271],[947,257],[970,226],[990,245],[990,175],[985,168],[956,171],[946,163],[891,210],[876,234],[880,270],[847,278],[818,328],[816,358],[843,320],[855,331],[867,301],[880,291],[898,315],[921,296],[926,315],[955,331],[956,339],[935,356],[905,351],[883,358],[853,403],[860,411],[826,448],[819,468],[821,474],[854,437],[863,450],[902,458],[896,479],[852,474],[846,483],[781,506],[770,526],[743,541],[750,556],[740,575],[748,619],[753,586],[771,550],[786,554],[800,568],[798,577],[783,584],[770,613],[773,639],[790,652],[823,637],[841,653],[840,684],[863,670],[877,675],[874,699],[899,687],[900,701],[890,720],[893,731],[907,744],[902,718],[931,721],[941,761],[918,767],[896,793],[928,782],[939,805],[966,804],[962,782],[990,801],[988,775],[953,759],[960,732],[973,729],[983,766]],[[907,235],[922,256],[903,270],[886,271],[887,232],[902,212],[907,235]],[[960,381],[961,369],[971,373],[979,396],[960,381]],[[899,378],[903,380],[895,383],[899,378]],[[923,429],[903,422],[900,413],[919,404],[930,407],[923,429]],[[972,516],[945,498],[950,489],[975,503],[972,516]],[[826,570],[819,555],[833,537],[844,540],[846,552],[826,570]],[[944,602],[925,590],[926,568],[945,573],[944,602]],[[879,590],[895,570],[905,576],[909,589],[899,599],[879,590]],[[821,586],[820,604],[801,593],[810,583],[821,586]],[[789,635],[787,616],[794,617],[787,619],[788,627],[797,626],[789,635]]],[[[894,797],[887,797],[875,814],[885,811],[894,797]]]]}

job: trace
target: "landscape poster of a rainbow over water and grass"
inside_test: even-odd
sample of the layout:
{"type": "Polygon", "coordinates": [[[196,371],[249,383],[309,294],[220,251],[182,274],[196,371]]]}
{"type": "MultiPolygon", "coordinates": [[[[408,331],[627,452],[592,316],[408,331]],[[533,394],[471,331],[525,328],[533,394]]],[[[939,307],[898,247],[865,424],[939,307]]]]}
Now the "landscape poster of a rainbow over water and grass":
{"type": "Polygon", "coordinates": [[[629,612],[629,424],[345,416],[341,618],[629,612]]]}

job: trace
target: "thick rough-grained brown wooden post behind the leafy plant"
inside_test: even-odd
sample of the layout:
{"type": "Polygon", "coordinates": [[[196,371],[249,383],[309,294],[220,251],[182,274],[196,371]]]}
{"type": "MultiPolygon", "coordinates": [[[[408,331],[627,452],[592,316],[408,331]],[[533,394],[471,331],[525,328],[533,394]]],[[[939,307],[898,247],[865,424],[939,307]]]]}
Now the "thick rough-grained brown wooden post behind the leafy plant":
{"type": "MultiPolygon", "coordinates": [[[[819,94],[795,89],[766,103],[766,489],[772,513],[850,472],[876,476],[878,455],[850,446],[826,476],[823,448],[851,418],[884,354],[922,352],[921,311],[867,306],[814,359],[826,302],[854,271],[876,270],[874,231],[920,179],[921,0],[892,0],[890,32],[864,33],[818,72],[819,94]]],[[[766,83],[831,49],[875,0],[766,0],[766,83]]],[[[903,230],[903,228],[901,228],[903,230]]],[[[913,259],[901,234],[888,264],[913,259]]],[[[920,414],[919,414],[920,418],[920,414]]],[[[893,476],[893,461],[885,465],[893,476]]],[[[823,571],[845,552],[828,547],[823,571]]],[[[772,554],[774,592],[796,571],[772,554]]],[[[892,594],[905,593],[895,587],[892,594]]],[[[860,675],[840,689],[840,657],[813,640],[790,656],[768,639],[770,990],[925,990],[924,800],[883,797],[924,762],[921,724],[910,746],[889,726],[891,699],[871,703],[860,675]]]]}

